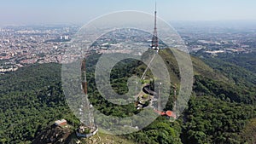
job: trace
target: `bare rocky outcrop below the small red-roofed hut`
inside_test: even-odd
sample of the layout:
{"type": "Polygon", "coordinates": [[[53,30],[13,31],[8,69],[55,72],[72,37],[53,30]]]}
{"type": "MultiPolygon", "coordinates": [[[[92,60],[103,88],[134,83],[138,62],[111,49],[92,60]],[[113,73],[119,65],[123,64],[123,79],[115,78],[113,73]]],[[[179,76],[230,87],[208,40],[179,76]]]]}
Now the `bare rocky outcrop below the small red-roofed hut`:
{"type": "Polygon", "coordinates": [[[73,134],[69,128],[51,125],[36,137],[32,144],[64,144],[68,143],[68,138],[73,134]]]}

